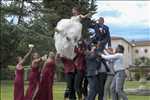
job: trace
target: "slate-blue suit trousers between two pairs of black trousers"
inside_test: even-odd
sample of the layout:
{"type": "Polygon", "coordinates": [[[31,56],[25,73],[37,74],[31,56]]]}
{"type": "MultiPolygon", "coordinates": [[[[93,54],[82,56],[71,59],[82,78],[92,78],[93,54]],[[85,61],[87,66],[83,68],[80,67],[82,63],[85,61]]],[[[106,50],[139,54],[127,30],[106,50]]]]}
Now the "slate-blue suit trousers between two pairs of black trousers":
{"type": "Polygon", "coordinates": [[[96,94],[98,92],[98,78],[97,76],[88,77],[89,91],[86,100],[95,100],[96,94]]]}

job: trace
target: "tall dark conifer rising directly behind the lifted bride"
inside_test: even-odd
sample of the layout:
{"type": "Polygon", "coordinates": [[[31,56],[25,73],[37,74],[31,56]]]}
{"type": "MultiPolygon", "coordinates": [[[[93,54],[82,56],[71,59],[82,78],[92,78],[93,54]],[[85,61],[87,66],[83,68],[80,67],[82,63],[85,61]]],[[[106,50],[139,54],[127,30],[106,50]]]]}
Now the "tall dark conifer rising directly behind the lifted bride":
{"type": "MultiPolygon", "coordinates": [[[[70,18],[72,16],[72,8],[79,7],[82,14],[87,14],[91,11],[96,11],[95,0],[43,0],[44,8],[51,9],[49,25],[55,26],[62,18],[70,18]]],[[[87,37],[88,19],[82,20],[83,37],[87,37]]]]}

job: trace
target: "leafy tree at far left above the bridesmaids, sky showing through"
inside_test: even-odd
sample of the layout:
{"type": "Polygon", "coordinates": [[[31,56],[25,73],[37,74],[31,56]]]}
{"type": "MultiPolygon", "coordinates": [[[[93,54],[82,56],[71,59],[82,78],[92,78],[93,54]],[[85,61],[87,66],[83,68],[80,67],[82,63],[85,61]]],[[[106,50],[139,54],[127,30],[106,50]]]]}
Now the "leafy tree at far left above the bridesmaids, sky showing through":
{"type": "Polygon", "coordinates": [[[15,57],[24,55],[29,43],[35,44],[37,51],[42,54],[47,53],[50,45],[53,44],[52,38],[44,34],[47,30],[41,27],[45,22],[34,18],[39,14],[37,12],[40,12],[41,4],[28,3],[30,9],[25,4],[27,4],[25,0],[14,0],[9,4],[2,3],[0,65],[3,68],[7,68],[9,64],[15,64],[15,57]],[[8,21],[11,17],[11,21],[8,21]],[[31,20],[26,21],[30,17],[32,17],[31,20]]]}

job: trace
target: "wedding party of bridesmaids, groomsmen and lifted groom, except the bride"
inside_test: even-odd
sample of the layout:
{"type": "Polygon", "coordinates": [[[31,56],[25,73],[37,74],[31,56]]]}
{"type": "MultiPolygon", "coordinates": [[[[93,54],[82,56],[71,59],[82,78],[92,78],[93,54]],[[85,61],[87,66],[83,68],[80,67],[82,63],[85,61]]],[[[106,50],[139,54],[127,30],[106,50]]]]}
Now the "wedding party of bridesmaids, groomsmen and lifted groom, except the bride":
{"type": "MultiPolygon", "coordinates": [[[[77,11],[76,13],[79,15],[77,11]]],[[[56,62],[60,61],[64,64],[66,80],[64,100],[95,100],[96,96],[98,100],[107,100],[110,87],[112,100],[128,100],[123,91],[126,78],[123,66],[124,47],[118,44],[115,49],[111,48],[109,28],[104,25],[103,17],[100,17],[97,23],[91,24],[90,28],[93,30],[92,37],[88,40],[78,40],[73,50],[73,59],[61,53],[50,52],[48,57],[40,57],[38,53],[33,53],[25,95],[23,63],[31,53],[32,47],[24,58],[17,57],[14,100],[53,100],[55,67],[56,62]]],[[[66,39],[70,41],[68,37],[66,39]]]]}

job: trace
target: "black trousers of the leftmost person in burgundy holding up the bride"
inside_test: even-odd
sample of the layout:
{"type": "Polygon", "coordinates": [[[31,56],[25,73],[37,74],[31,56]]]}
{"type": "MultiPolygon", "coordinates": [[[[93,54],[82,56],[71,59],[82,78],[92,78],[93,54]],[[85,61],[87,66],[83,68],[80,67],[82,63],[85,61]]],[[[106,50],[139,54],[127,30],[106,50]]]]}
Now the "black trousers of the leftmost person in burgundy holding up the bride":
{"type": "Polygon", "coordinates": [[[64,97],[69,98],[69,100],[75,100],[76,99],[75,89],[74,89],[74,78],[75,78],[74,73],[65,74],[67,87],[66,87],[64,97]]]}

